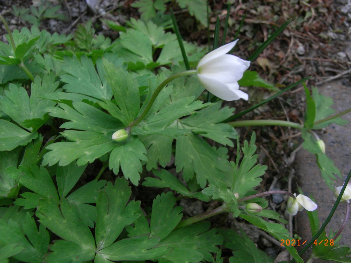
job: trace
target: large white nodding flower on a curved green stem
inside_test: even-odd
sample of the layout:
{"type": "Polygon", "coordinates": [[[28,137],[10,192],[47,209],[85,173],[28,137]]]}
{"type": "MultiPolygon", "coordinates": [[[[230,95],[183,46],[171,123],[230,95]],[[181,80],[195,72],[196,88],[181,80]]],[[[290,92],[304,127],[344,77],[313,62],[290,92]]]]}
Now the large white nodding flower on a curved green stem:
{"type": "Polygon", "coordinates": [[[197,75],[201,84],[222,100],[248,100],[249,95],[239,90],[238,80],[243,77],[250,61],[226,54],[238,40],[221,46],[204,56],[198,66],[197,75]]]}

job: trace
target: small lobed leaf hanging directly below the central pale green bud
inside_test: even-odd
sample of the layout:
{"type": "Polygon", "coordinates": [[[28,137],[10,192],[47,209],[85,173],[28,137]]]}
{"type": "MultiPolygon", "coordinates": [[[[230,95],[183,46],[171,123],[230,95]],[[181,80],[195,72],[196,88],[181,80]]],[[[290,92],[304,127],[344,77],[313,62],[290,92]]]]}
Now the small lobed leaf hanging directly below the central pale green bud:
{"type": "Polygon", "coordinates": [[[137,138],[132,137],[124,144],[117,144],[112,150],[108,166],[115,174],[118,174],[121,166],[123,175],[130,179],[134,185],[140,181],[140,173],[143,171],[141,161],[147,161],[144,144],[137,138]]]}

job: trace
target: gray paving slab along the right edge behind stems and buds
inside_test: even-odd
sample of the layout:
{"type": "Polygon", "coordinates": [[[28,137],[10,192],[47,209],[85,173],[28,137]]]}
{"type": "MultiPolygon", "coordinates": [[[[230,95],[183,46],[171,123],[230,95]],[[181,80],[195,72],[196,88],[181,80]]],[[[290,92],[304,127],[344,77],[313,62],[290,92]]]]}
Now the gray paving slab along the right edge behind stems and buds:
{"type": "MultiPolygon", "coordinates": [[[[342,112],[351,107],[351,87],[342,85],[341,81],[328,83],[318,88],[320,93],[333,98],[335,104],[332,107],[337,112],[342,112]]],[[[335,166],[341,171],[345,179],[351,168],[351,113],[344,115],[343,119],[348,120],[349,124],[346,126],[331,124],[324,131],[320,131],[318,135],[325,142],[327,156],[334,161],[335,166]]],[[[322,224],[330,213],[335,201],[333,200],[332,191],[326,186],[320,175],[320,170],[316,164],[316,157],[304,149],[300,150],[296,156],[296,171],[299,186],[303,189],[305,195],[308,196],[310,193],[313,193],[314,198],[316,198],[319,220],[320,224],[322,224]]],[[[343,181],[339,179],[337,186],[341,186],[342,184],[343,181]]],[[[339,229],[345,218],[345,212],[345,203],[340,203],[332,220],[327,225],[327,233],[331,228],[334,231],[339,229]]],[[[304,240],[310,240],[311,232],[307,213],[305,211],[299,212],[295,220],[299,236],[304,240]]],[[[342,235],[343,238],[340,243],[350,246],[351,218],[349,218],[342,235]]],[[[309,257],[307,254],[309,253],[305,253],[304,260],[309,257]]]]}

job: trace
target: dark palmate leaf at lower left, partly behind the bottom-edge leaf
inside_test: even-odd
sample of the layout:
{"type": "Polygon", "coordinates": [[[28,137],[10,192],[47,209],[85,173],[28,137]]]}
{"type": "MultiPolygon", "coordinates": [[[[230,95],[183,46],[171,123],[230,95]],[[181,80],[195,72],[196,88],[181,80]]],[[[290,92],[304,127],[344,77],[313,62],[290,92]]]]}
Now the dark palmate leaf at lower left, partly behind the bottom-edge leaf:
{"type": "MultiPolygon", "coordinates": [[[[76,163],[71,163],[65,167],[58,167],[56,180],[60,200],[66,197],[69,191],[71,191],[85,167],[78,167],[76,163]]],[[[15,204],[24,206],[25,209],[31,209],[39,205],[41,198],[52,198],[57,202],[59,201],[54,182],[44,167],[41,166],[39,168],[33,164],[31,169],[20,166],[19,169],[11,167],[7,171],[11,172],[10,175],[21,185],[34,192],[27,191],[21,194],[21,198],[17,198],[14,202],[15,204]]],[[[94,226],[97,217],[96,207],[90,205],[90,203],[95,203],[99,195],[99,189],[104,187],[104,185],[104,180],[93,180],[84,184],[84,186],[78,188],[67,197],[69,203],[77,206],[82,222],[89,227],[94,226]]]]}

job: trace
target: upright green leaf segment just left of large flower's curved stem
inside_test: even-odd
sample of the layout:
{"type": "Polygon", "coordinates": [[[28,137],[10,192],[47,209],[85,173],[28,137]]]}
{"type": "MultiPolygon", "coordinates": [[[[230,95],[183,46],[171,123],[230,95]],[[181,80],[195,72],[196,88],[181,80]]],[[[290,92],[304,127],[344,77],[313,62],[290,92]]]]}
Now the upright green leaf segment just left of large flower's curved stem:
{"type": "MultiPolygon", "coordinates": [[[[104,60],[107,83],[112,87],[114,100],[117,102],[121,114],[128,122],[132,122],[139,112],[139,85],[131,74],[113,63],[104,60]]],[[[127,123],[127,124],[129,124],[127,123]]]]}

